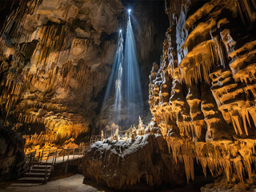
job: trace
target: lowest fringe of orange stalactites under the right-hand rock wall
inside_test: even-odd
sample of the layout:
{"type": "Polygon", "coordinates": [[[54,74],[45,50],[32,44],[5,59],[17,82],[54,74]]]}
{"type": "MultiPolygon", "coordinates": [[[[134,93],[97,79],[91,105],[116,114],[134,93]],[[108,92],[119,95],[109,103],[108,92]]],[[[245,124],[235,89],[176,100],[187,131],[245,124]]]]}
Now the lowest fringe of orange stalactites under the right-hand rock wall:
{"type": "Polygon", "coordinates": [[[187,182],[194,178],[193,159],[198,159],[206,176],[206,168],[214,175],[218,170],[224,170],[229,181],[236,174],[240,182],[244,181],[245,171],[251,179],[250,157],[254,155],[255,140],[235,142],[186,142],[168,138],[174,162],[183,161],[187,182]],[[208,149],[208,150],[205,150],[208,149]]]}

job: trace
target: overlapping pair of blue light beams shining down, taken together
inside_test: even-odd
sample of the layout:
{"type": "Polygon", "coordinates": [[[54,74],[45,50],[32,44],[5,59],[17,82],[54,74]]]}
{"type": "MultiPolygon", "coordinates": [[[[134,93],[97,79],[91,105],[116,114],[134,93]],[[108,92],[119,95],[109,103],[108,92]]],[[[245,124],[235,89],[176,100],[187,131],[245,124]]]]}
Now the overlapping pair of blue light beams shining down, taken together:
{"type": "Polygon", "coordinates": [[[137,122],[138,116],[142,115],[143,111],[142,85],[130,11],[129,9],[125,50],[123,49],[122,30],[120,29],[117,52],[101,110],[102,119],[108,117],[106,119],[108,125],[114,122],[122,128],[128,128],[137,122]]]}

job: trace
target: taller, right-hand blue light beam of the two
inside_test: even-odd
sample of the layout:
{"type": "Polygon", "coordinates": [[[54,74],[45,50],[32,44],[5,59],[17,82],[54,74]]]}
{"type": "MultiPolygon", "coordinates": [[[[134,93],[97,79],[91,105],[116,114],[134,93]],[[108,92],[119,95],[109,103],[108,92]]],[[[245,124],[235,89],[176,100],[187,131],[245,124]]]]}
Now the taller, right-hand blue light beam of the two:
{"type": "Polygon", "coordinates": [[[138,73],[138,59],[136,54],[134,31],[130,22],[130,14],[128,16],[126,28],[123,71],[123,97],[126,102],[127,117],[129,117],[128,123],[132,123],[135,118],[142,113],[143,99],[142,86],[138,73]]]}

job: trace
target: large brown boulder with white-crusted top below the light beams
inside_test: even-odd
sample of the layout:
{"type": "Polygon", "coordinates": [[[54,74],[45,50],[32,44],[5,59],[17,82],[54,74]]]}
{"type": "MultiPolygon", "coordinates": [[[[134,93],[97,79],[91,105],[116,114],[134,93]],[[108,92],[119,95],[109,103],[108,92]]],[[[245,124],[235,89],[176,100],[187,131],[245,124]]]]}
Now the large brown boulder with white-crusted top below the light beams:
{"type": "Polygon", "coordinates": [[[114,189],[153,190],[151,186],[186,182],[181,163],[174,165],[160,134],[138,135],[131,140],[95,142],[86,152],[82,172],[86,178],[114,189]],[[144,187],[146,188],[143,188],[144,187]]]}

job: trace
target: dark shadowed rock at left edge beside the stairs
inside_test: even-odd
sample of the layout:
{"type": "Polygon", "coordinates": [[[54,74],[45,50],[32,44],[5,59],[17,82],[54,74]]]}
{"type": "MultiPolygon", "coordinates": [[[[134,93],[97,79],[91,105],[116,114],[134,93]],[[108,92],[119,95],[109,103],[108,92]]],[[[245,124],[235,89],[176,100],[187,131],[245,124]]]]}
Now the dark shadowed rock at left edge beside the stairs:
{"type": "Polygon", "coordinates": [[[24,158],[24,144],[21,136],[0,125],[0,182],[16,177],[17,164],[24,158]]]}

